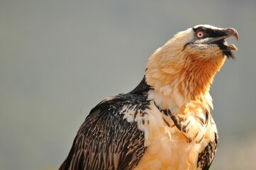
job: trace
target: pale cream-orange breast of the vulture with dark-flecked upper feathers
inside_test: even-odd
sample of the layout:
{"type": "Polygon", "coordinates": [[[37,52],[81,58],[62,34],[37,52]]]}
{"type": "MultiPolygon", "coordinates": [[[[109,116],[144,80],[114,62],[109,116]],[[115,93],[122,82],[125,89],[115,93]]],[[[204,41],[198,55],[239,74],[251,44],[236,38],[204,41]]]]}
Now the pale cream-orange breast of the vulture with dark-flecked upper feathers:
{"type": "Polygon", "coordinates": [[[199,153],[216,131],[211,115],[208,118],[200,113],[167,115],[154,101],[150,101],[150,109],[145,113],[124,115],[128,121],[136,121],[145,135],[147,149],[135,169],[197,169],[199,153]]]}

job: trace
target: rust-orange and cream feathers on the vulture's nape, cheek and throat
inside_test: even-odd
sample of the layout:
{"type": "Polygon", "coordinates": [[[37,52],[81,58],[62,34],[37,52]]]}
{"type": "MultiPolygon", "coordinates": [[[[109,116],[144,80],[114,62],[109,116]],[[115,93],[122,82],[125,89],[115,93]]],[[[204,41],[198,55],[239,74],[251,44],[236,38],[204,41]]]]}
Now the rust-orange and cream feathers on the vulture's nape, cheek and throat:
{"type": "Polygon", "coordinates": [[[182,49],[170,40],[150,57],[145,77],[158,94],[179,107],[191,101],[211,106],[208,91],[225,60],[218,47],[182,49]]]}

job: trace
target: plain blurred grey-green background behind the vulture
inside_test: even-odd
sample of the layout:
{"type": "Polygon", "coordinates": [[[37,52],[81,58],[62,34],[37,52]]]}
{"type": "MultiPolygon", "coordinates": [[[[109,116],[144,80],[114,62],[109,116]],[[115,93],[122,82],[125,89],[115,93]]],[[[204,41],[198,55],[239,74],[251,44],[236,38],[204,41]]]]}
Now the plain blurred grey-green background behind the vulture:
{"type": "Polygon", "coordinates": [[[211,86],[211,169],[256,169],[256,1],[0,1],[0,169],[57,169],[87,114],[132,90],[148,57],[201,23],[233,27],[211,86]]]}

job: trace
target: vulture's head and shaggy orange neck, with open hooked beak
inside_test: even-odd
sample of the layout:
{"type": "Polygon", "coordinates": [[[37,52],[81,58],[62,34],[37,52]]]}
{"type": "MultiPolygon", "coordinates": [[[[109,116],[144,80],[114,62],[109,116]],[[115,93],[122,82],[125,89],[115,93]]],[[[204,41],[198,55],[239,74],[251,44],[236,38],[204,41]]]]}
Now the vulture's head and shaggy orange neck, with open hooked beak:
{"type": "Polygon", "coordinates": [[[177,33],[149,58],[147,83],[178,106],[205,98],[209,103],[208,91],[216,72],[227,57],[234,58],[232,50],[238,50],[226,42],[229,37],[238,40],[238,31],[199,25],[177,33]]]}

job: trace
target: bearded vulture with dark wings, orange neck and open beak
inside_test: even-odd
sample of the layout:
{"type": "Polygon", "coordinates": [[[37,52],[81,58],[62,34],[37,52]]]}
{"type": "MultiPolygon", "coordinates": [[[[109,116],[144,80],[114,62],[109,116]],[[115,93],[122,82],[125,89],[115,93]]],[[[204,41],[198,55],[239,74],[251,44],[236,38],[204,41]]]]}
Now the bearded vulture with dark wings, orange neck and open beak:
{"type": "Polygon", "coordinates": [[[234,28],[197,25],[176,33],[149,57],[132,91],[91,109],[60,170],[209,169],[218,148],[209,93],[234,28]]]}

